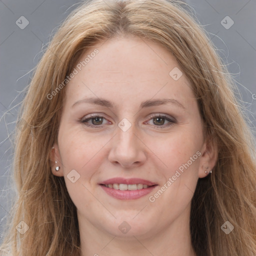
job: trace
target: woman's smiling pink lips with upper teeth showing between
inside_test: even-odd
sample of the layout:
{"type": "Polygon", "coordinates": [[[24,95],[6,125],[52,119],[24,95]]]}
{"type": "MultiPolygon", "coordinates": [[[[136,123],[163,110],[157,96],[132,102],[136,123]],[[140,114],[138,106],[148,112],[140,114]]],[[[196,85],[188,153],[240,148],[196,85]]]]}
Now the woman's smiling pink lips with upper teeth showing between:
{"type": "Polygon", "coordinates": [[[157,184],[141,178],[110,178],[100,183],[102,189],[116,199],[137,199],[148,194],[157,184]]]}

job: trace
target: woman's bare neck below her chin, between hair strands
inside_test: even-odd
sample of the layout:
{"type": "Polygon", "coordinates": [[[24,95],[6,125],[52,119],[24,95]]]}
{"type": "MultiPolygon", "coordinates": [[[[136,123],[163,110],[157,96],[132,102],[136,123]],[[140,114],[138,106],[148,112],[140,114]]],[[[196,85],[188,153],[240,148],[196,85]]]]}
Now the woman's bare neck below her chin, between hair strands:
{"type": "Polygon", "coordinates": [[[77,212],[81,256],[196,256],[191,245],[189,213],[190,206],[158,232],[152,228],[143,235],[116,236],[94,226],[77,212]]]}

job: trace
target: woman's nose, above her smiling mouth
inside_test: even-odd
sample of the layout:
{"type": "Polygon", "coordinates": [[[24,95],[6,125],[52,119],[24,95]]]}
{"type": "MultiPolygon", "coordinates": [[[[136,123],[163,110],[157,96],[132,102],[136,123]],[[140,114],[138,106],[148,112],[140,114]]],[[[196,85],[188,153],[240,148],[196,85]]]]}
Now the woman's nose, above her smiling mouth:
{"type": "Polygon", "coordinates": [[[145,162],[146,146],[136,131],[133,124],[126,131],[116,128],[116,135],[111,139],[108,154],[111,163],[120,164],[122,167],[138,167],[145,162]]]}

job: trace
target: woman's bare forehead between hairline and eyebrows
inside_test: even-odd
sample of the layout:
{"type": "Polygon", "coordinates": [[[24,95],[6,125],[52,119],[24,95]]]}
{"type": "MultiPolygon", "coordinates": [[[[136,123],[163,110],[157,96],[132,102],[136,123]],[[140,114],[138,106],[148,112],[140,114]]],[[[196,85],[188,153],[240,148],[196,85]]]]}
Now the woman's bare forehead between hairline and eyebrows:
{"type": "Polygon", "coordinates": [[[84,52],[67,86],[67,104],[103,97],[117,104],[149,98],[192,100],[189,82],[161,45],[135,36],[109,38],[84,52]],[[96,52],[96,53],[95,53],[96,52]]]}

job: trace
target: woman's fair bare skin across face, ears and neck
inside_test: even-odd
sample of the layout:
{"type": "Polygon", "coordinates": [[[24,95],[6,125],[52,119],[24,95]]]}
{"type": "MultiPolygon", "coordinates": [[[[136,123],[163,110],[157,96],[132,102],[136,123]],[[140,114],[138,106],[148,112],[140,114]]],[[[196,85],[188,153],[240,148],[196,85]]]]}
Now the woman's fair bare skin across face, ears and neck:
{"type": "Polygon", "coordinates": [[[81,255],[192,256],[191,198],[197,179],[208,175],[206,167],[209,171],[214,166],[216,149],[203,139],[189,82],[184,73],[177,80],[169,75],[179,66],[154,42],[126,35],[95,44],[95,48],[98,53],[66,87],[58,141],[51,154],[52,173],[64,176],[77,208],[81,255]],[[85,97],[102,97],[114,106],[76,103],[72,107],[85,97]],[[184,108],[169,103],[139,109],[142,101],[156,98],[173,98],[184,108]],[[87,121],[100,128],[79,122],[91,113],[104,117],[87,121]],[[163,119],[162,124],[163,120],[150,117],[152,113],[176,122],[167,126],[171,122],[163,119]],[[126,131],[118,127],[123,118],[131,124],[126,131]],[[149,201],[197,151],[200,156],[158,198],[149,201]],[[60,166],[58,171],[56,166],[60,166]],[[67,177],[72,169],[76,177],[80,175],[74,183],[67,177]],[[113,177],[143,178],[158,185],[138,199],[120,200],[99,185],[113,177]],[[118,228],[123,221],[130,226],[126,233],[118,228]]]}

